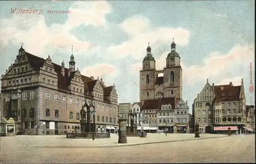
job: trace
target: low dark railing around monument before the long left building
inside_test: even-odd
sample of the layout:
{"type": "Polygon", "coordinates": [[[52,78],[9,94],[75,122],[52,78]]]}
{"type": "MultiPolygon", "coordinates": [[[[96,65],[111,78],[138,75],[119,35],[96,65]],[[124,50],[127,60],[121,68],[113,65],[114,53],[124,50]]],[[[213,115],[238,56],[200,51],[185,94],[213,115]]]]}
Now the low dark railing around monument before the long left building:
{"type": "MultiPolygon", "coordinates": [[[[93,133],[67,133],[67,138],[93,138],[93,133]]],[[[94,138],[110,138],[110,133],[94,133],[94,138]]]]}

